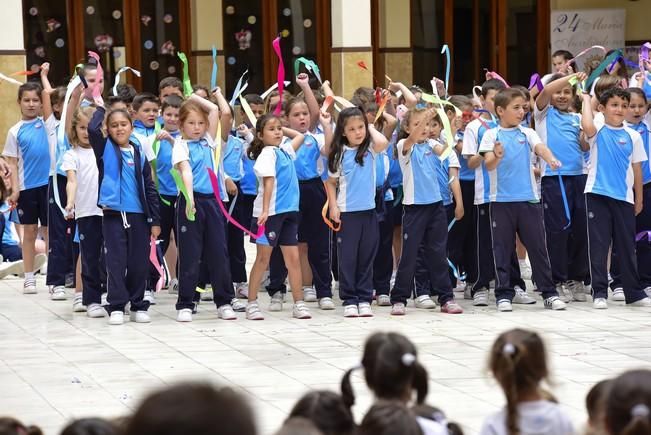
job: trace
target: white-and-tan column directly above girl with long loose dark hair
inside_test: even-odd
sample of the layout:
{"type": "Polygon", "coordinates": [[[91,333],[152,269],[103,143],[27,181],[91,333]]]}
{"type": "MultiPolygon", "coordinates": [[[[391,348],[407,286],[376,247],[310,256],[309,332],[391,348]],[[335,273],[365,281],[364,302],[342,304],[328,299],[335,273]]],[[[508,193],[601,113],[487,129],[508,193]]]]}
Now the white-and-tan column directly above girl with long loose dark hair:
{"type": "Polygon", "coordinates": [[[373,87],[371,0],[332,0],[332,87],[350,98],[360,86],[373,87]],[[363,61],[369,71],[357,66],[363,61]]]}

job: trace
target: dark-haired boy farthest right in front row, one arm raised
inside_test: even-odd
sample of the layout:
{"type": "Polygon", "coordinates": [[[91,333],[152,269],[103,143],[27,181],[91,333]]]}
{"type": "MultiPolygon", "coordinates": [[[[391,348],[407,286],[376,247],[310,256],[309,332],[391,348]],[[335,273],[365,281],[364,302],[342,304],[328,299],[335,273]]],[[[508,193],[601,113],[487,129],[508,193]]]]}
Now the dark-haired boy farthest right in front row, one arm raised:
{"type": "Polygon", "coordinates": [[[581,125],[590,144],[585,187],[592,306],[608,308],[608,250],[616,253],[626,303],[651,306],[640,286],[635,258],[635,216],[643,210],[641,162],[647,160],[640,134],[624,126],[631,94],[611,88],[599,97],[604,124],[595,126],[590,96],[583,95],[581,125]],[[613,224],[613,222],[615,224],[613,224]]]}

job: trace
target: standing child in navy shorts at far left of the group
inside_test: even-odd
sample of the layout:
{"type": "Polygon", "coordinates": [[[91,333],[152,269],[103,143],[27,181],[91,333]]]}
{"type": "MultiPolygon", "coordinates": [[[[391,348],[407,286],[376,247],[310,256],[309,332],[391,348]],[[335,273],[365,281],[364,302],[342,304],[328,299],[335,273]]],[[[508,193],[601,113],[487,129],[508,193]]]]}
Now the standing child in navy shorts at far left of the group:
{"type": "Polygon", "coordinates": [[[11,167],[12,193],[8,202],[17,206],[23,226],[23,294],[36,294],[34,253],[39,222],[47,238],[47,186],[50,168],[46,127],[39,117],[42,107],[41,86],[34,82],[21,85],[18,88],[18,104],[22,119],[7,133],[2,155],[11,167]]]}

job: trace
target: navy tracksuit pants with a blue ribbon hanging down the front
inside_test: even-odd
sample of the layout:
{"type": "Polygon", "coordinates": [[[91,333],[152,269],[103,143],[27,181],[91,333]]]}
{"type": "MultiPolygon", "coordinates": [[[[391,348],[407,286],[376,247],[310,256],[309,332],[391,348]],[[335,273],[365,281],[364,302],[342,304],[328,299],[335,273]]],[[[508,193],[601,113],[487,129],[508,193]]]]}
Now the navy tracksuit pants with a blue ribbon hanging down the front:
{"type": "Polygon", "coordinates": [[[563,176],[571,219],[570,226],[565,229],[568,219],[565,215],[558,176],[542,178],[545,237],[554,284],[562,284],[568,280],[584,282],[590,274],[585,194],[583,193],[585,182],[585,175],[563,176]]]}

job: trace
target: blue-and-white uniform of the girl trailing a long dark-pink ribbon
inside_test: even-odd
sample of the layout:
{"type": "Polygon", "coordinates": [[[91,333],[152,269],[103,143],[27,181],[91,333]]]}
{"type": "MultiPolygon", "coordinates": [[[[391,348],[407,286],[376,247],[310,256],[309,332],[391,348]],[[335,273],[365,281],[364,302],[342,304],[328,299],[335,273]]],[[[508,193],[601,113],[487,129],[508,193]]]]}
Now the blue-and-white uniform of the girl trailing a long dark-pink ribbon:
{"type": "MultiPolygon", "coordinates": [[[[176,205],[179,250],[177,310],[194,308],[202,267],[208,274],[217,307],[230,304],[235,297],[226,244],[226,223],[208,176],[208,170],[213,170],[219,163],[214,160],[216,146],[219,145],[208,134],[199,140],[177,138],[174,142],[172,165],[188,162],[192,170],[196,209],[195,219],[191,221],[186,215],[185,197],[179,197],[176,205]]],[[[224,195],[221,171],[217,176],[220,181],[217,195],[225,200],[227,197],[224,195]]]]}

